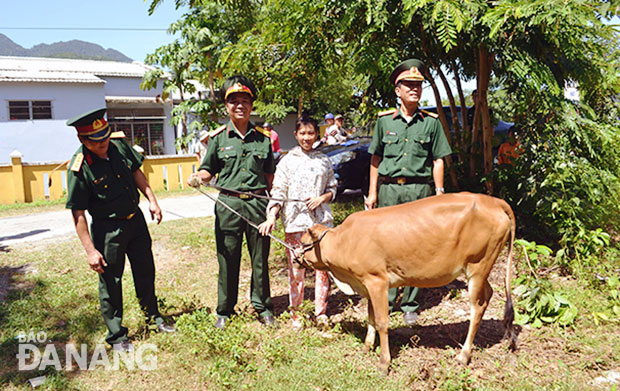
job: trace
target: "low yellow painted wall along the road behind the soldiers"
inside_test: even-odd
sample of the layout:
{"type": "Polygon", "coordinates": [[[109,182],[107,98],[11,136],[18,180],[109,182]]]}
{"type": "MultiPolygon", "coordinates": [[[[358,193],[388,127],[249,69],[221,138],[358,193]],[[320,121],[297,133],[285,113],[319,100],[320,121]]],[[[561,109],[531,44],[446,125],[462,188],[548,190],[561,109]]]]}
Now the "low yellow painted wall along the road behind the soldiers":
{"type": "MultiPolygon", "coordinates": [[[[23,193],[25,202],[46,199],[45,188],[47,177],[51,177],[49,186],[49,200],[62,198],[66,189],[66,164],[56,169],[61,163],[22,163],[21,172],[23,175],[23,193]],[[64,178],[63,178],[64,177],[64,178]],[[64,179],[64,180],[63,180],[64,179]]],[[[167,190],[185,188],[187,177],[198,168],[198,160],[193,155],[170,155],[147,157],[144,160],[142,170],[151,184],[153,190],[166,190],[164,182],[164,167],[167,171],[167,190]],[[179,176],[179,167],[181,175],[179,176]]],[[[15,167],[17,168],[17,167],[15,167]]],[[[16,187],[14,185],[14,166],[0,166],[0,203],[12,204],[17,201],[16,187]]],[[[19,171],[19,170],[18,170],[19,171]]],[[[16,171],[16,172],[18,172],[16,171]]],[[[49,179],[48,179],[49,181],[49,179]]]]}

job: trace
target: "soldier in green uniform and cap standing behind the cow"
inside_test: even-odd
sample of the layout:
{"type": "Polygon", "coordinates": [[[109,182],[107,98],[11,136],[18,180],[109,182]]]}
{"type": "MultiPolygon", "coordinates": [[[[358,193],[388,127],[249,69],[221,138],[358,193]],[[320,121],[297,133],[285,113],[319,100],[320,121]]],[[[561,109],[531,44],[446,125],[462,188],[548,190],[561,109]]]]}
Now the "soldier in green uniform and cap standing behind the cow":
{"type": "MultiPolygon", "coordinates": [[[[452,153],[437,115],[420,110],[424,64],[410,59],[399,64],[390,81],[400,98],[399,109],[379,113],[368,152],[370,160],[370,186],[365,203],[368,208],[391,206],[444,193],[443,157],[452,153]],[[379,195],[377,197],[377,187],[379,195]]],[[[417,319],[418,288],[406,287],[401,300],[401,310],[407,325],[417,319]]],[[[398,288],[388,294],[390,310],[393,309],[398,288]]]]}

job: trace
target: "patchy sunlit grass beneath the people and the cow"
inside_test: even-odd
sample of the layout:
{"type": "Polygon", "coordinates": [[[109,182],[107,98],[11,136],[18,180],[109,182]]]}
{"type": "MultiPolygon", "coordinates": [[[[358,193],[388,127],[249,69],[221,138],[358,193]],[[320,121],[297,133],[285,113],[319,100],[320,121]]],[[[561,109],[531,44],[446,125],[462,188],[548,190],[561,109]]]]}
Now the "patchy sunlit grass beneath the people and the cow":
{"type": "MultiPolygon", "coordinates": [[[[337,220],[359,209],[359,201],[338,203],[337,220]]],[[[606,297],[579,281],[555,277],[555,286],[578,306],[572,328],[523,327],[516,352],[502,341],[505,255],[491,276],[495,294],[476,337],[468,367],[454,360],[467,333],[466,284],[421,292],[418,325],[390,320],[393,357],[388,376],[380,373],[377,352],[363,352],[366,301],[332,288],[330,326],[317,325],[313,303],[304,305],[304,328],[288,322],[288,276],[283,248],[272,243],[270,278],[280,323],[266,329],[256,319],[248,292],[250,268],[242,260],[240,316],[223,332],[213,327],[217,261],[213,219],[185,219],[151,225],[157,265],[156,290],[162,313],[176,322],[175,334],[157,334],[144,323],[130,270],[124,275],[124,324],[136,348],[153,344],[157,368],[65,370],[64,346],[86,344],[89,357],[104,343],[97,276],[87,267],[77,238],[21,245],[0,252],[0,388],[32,389],[28,379],[46,375],[45,390],[610,390],[594,379],[620,371],[617,323],[595,325],[590,314],[606,297]],[[63,368],[19,371],[19,334],[44,332],[57,346],[63,368]]],[[[282,236],[282,232],[278,233],[282,236]]],[[[517,270],[522,270],[518,265],[517,270]]],[[[129,265],[127,266],[129,269],[129,265]]],[[[307,297],[314,279],[307,273],[307,297]]],[[[47,343],[47,342],[46,342],[47,343]]],[[[38,343],[43,352],[45,343],[38,343]]],[[[110,353],[110,357],[112,354],[110,353]]]]}

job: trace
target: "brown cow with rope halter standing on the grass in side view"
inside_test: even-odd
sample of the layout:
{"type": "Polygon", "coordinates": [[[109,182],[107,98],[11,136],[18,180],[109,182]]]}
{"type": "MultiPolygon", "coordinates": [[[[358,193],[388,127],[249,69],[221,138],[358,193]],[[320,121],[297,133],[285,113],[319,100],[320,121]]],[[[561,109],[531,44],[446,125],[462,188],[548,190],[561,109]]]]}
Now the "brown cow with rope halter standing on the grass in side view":
{"type": "Polygon", "coordinates": [[[462,272],[468,278],[470,323],[457,360],[469,363],[472,344],[493,289],[487,281],[499,253],[510,238],[506,268],[504,327],[516,346],[510,293],[515,217],[510,206],[482,194],[458,193],[424,198],[357,212],[336,228],[320,224],[302,237],[298,261],[330,270],[339,280],[368,298],[365,349],[379,332],[380,367],[390,363],[388,288],[446,285],[462,272]]]}

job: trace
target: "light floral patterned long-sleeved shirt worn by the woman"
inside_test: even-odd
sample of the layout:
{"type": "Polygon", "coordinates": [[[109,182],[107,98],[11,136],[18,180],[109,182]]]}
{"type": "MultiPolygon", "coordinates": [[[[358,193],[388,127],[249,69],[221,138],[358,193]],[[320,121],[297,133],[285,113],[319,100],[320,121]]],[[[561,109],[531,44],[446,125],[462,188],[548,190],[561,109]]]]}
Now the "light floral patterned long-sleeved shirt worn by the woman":
{"type": "MultiPolygon", "coordinates": [[[[271,188],[274,198],[308,199],[326,192],[336,198],[336,178],[327,156],[318,151],[304,152],[301,147],[293,148],[276,168],[271,188]]],[[[329,203],[324,202],[311,211],[305,203],[270,201],[267,212],[273,205],[280,205],[284,232],[301,232],[315,224],[332,227],[334,218],[329,203]],[[284,204],[284,205],[283,205],[284,204]]]]}

